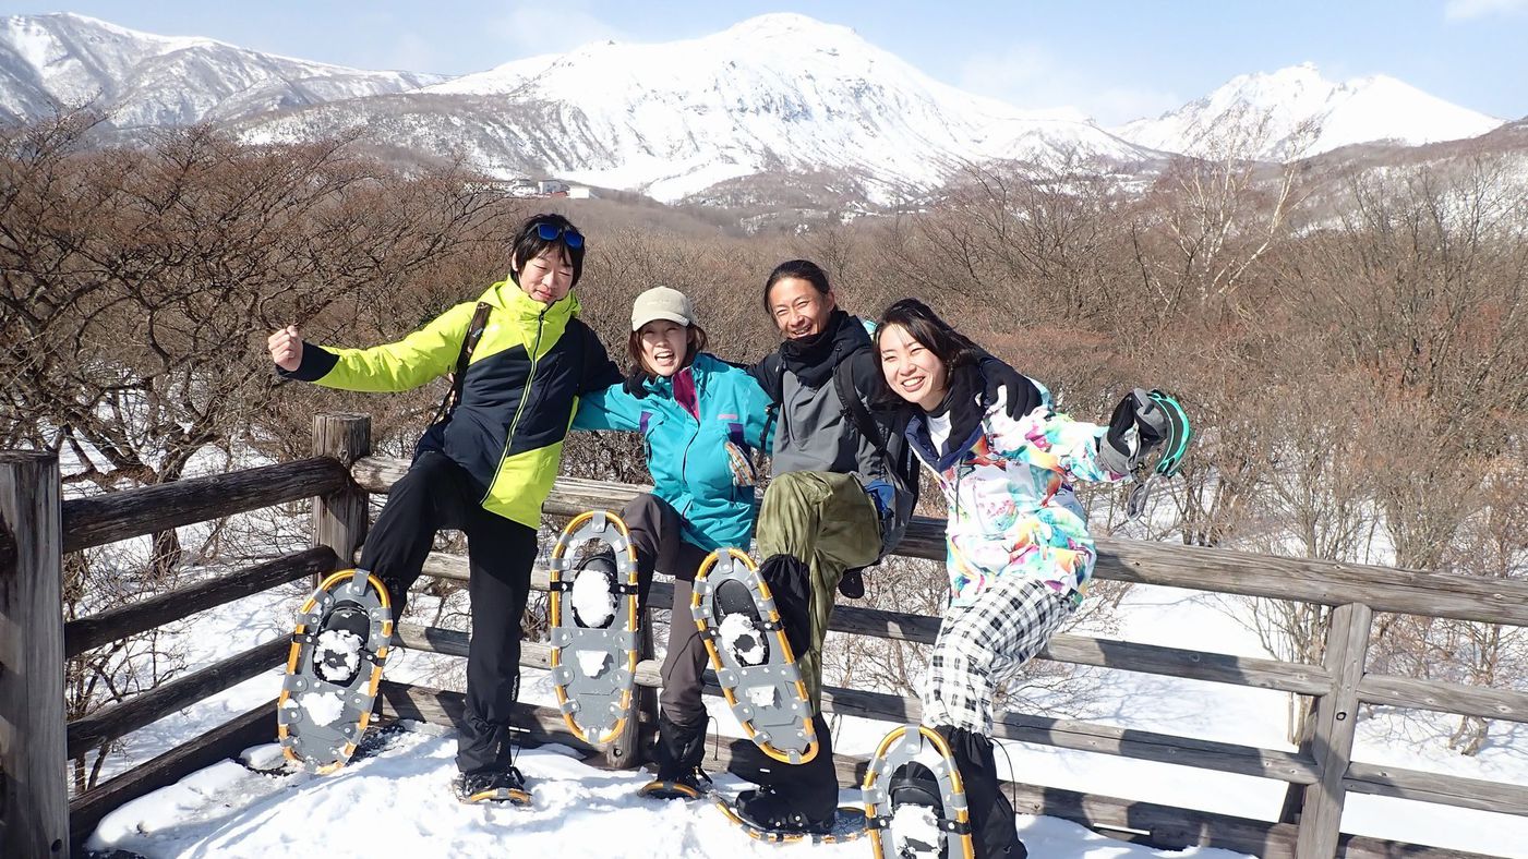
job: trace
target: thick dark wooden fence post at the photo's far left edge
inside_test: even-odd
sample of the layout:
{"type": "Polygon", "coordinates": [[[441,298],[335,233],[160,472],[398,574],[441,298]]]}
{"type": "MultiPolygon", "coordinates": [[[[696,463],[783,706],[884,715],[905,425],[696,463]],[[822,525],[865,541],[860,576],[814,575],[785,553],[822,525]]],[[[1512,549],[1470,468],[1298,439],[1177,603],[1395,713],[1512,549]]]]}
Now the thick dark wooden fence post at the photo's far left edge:
{"type": "Polygon", "coordinates": [[[0,856],[69,856],[58,457],[0,451],[0,856]]]}

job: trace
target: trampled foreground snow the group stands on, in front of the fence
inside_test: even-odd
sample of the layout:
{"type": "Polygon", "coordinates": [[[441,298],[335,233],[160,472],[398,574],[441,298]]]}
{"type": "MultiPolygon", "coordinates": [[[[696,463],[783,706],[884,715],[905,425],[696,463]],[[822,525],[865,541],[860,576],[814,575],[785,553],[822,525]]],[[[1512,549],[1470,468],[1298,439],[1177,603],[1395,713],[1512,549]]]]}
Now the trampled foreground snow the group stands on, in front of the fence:
{"type": "MultiPolygon", "coordinates": [[[[527,749],[520,767],[530,809],[463,806],[449,790],[455,740],[390,735],[384,750],[335,775],[264,775],[223,761],[108,815],[90,847],[144,856],[726,856],[863,857],[865,842],[772,845],[753,841],[707,802],[636,795],[648,780],[584,764],[564,746],[527,749]]],[[[723,776],[720,786],[741,783],[723,776]]],[[[840,793],[857,799],[856,792],[840,793]]],[[[1160,851],[1097,836],[1050,818],[1021,818],[1036,856],[1232,859],[1222,850],[1160,851]]]]}

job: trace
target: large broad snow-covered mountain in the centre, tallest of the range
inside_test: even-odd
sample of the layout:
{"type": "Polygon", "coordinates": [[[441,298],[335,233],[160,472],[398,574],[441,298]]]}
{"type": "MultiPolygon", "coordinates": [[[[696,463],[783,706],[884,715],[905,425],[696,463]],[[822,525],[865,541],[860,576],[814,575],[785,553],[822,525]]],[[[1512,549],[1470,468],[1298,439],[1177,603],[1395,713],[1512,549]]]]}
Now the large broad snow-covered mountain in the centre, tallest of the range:
{"type": "Polygon", "coordinates": [[[704,38],[587,44],[419,93],[240,124],[255,142],[365,128],[460,151],[501,176],[549,173],[674,200],[759,173],[833,171],[883,200],[966,162],[1158,157],[1096,125],[940,84],[843,26],[770,14],[704,38]]]}

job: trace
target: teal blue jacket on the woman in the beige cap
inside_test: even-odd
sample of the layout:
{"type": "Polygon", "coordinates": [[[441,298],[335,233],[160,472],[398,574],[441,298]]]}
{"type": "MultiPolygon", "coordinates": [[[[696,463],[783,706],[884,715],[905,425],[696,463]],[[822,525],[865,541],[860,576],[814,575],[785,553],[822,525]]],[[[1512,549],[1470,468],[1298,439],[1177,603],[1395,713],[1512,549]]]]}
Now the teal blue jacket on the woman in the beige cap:
{"type": "Polygon", "coordinates": [[[685,541],[706,552],[746,552],[758,518],[753,454],[772,443],[770,399],[747,370],[709,353],[697,355],[689,371],[700,420],[674,399],[674,382],[659,378],[646,384],[645,397],[620,384],[584,394],[573,428],[642,433],[652,494],[678,511],[685,541]],[[727,442],[743,462],[727,452],[727,442]]]}

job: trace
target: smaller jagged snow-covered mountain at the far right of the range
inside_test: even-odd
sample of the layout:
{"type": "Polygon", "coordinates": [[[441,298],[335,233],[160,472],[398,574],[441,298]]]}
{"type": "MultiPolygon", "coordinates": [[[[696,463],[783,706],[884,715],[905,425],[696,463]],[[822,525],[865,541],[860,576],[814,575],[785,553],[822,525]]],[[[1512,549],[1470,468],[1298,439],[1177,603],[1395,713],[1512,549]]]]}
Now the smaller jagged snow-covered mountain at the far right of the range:
{"type": "Polygon", "coordinates": [[[1143,147],[1201,157],[1290,160],[1374,141],[1420,145],[1475,138],[1500,124],[1395,78],[1334,83],[1305,63],[1239,75],[1178,110],[1112,131],[1143,147]]]}

